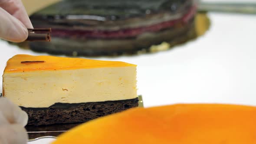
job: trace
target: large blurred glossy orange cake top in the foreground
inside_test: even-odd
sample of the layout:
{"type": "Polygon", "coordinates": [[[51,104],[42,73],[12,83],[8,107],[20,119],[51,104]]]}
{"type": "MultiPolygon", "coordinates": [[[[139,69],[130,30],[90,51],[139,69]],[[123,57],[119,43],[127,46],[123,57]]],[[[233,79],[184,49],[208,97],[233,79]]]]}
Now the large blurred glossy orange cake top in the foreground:
{"type": "Polygon", "coordinates": [[[256,144],[256,107],[133,108],[82,124],[53,144],[256,144]]]}

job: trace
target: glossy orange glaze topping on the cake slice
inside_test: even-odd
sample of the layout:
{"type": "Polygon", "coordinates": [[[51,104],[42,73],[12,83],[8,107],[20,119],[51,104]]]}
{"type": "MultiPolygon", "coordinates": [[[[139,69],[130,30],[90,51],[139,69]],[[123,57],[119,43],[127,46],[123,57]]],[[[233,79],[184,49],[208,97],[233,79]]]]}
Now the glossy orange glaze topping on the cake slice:
{"type": "Polygon", "coordinates": [[[27,72],[38,70],[92,69],[103,67],[136,66],[125,62],[101,61],[56,56],[16,55],[8,60],[4,72],[27,72]]]}

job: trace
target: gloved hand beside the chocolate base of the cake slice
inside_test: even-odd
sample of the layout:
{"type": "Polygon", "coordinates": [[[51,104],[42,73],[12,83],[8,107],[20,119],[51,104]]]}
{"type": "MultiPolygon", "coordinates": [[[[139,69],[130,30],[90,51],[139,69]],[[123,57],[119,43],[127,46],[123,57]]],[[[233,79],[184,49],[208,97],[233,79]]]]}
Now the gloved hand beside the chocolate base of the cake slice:
{"type": "Polygon", "coordinates": [[[0,144],[26,144],[28,115],[7,98],[0,98],[0,144]]]}

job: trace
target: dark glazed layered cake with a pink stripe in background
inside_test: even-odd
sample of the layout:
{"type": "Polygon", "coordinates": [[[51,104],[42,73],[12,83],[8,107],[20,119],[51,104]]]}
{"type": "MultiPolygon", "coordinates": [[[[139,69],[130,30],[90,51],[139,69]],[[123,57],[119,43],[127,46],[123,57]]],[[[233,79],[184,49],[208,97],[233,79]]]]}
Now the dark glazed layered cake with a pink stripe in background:
{"type": "Polygon", "coordinates": [[[34,27],[51,27],[53,35],[30,49],[72,56],[149,51],[194,38],[196,11],[194,0],[63,0],[30,16],[34,27]]]}

